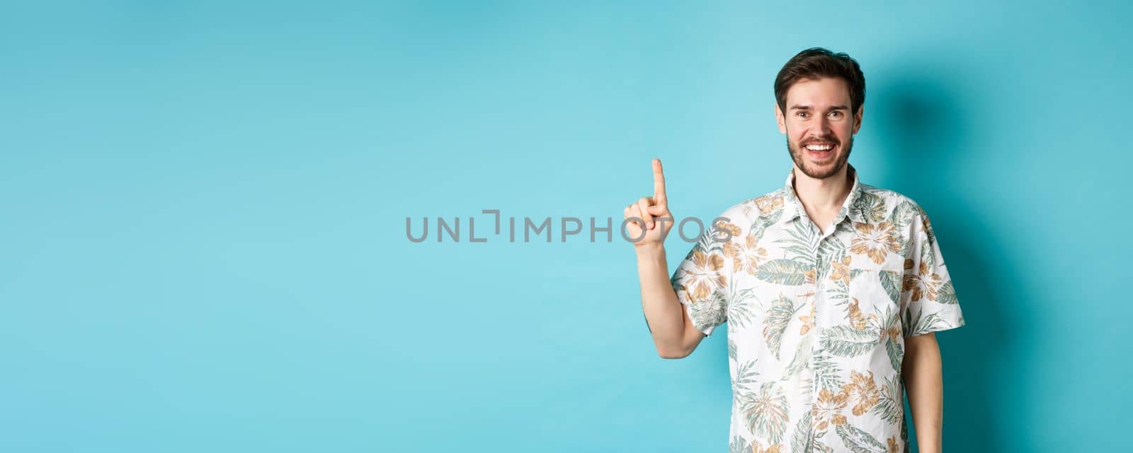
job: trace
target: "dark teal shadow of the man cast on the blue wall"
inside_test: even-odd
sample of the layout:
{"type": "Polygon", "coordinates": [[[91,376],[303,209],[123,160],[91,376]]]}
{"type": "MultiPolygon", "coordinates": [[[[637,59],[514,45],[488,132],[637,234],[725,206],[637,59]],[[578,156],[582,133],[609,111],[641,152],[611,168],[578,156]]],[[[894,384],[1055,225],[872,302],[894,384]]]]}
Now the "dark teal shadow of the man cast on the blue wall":
{"type": "MultiPolygon", "coordinates": [[[[1002,438],[998,424],[1019,408],[997,406],[1002,380],[995,373],[1004,357],[1016,354],[1011,324],[1002,315],[1007,299],[999,293],[1000,282],[1019,281],[1010,265],[1016,259],[988,239],[989,225],[974,209],[982,201],[955,190],[968,181],[956,157],[976,149],[977,140],[973,113],[960,104],[957,90],[948,89],[942,68],[893,72],[867,101],[866,121],[872,113],[885,160],[885,173],[876,175],[884,182],[878,185],[911,197],[928,214],[964,314],[964,326],[937,332],[944,360],[944,447],[1011,451],[1020,447],[1019,439],[1002,438]]],[[[912,442],[908,415],[906,422],[912,442]]]]}

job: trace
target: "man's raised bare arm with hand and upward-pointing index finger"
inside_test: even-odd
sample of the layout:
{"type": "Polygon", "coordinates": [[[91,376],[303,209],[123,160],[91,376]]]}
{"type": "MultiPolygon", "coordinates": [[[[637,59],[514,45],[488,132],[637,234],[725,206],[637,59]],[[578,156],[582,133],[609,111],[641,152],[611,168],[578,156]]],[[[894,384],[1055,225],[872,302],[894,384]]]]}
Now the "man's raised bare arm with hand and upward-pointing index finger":
{"type": "Polygon", "coordinates": [[[641,310],[657,354],[663,358],[682,358],[705,336],[692,326],[668,280],[664,244],[673,227],[673,215],[668,211],[659,159],[653,159],[653,197],[641,198],[623,210],[627,219],[634,219],[625,225],[625,233],[638,239],[633,250],[641,284],[641,310]]]}

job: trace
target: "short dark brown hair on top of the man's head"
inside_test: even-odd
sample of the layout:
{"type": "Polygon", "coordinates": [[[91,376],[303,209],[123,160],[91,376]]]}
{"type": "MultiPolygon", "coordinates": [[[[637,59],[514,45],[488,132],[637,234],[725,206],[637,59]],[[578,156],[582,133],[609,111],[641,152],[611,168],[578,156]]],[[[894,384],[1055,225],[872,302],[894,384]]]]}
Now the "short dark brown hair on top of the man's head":
{"type": "Polygon", "coordinates": [[[775,76],[775,101],[780,110],[786,112],[786,92],[799,80],[838,77],[850,87],[850,112],[866,103],[866,76],[858,61],[845,53],[834,53],[823,47],[810,47],[799,52],[783,64],[775,76]]]}

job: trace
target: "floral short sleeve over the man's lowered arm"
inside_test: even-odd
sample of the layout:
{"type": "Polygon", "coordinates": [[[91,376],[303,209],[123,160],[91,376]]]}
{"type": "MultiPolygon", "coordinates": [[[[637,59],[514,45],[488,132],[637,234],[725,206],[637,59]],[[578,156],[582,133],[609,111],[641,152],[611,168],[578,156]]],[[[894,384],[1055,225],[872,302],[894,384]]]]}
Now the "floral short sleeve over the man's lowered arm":
{"type": "Polygon", "coordinates": [[[905,338],[964,325],[956,288],[932,225],[923,210],[918,211],[909,225],[910,244],[901,285],[905,338]]]}

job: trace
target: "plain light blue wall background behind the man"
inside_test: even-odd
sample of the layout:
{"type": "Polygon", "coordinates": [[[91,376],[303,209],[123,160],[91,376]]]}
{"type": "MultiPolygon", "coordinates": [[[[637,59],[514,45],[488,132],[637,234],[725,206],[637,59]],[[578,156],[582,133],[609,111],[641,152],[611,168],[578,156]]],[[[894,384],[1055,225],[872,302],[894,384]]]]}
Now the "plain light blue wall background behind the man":
{"type": "Polygon", "coordinates": [[[816,45],[956,284],[946,448],[1125,447],[1127,3],[787,3],[6,2],[0,451],[725,451],[724,334],[661,359],[629,244],[480,210],[772,191],[816,45]]]}

